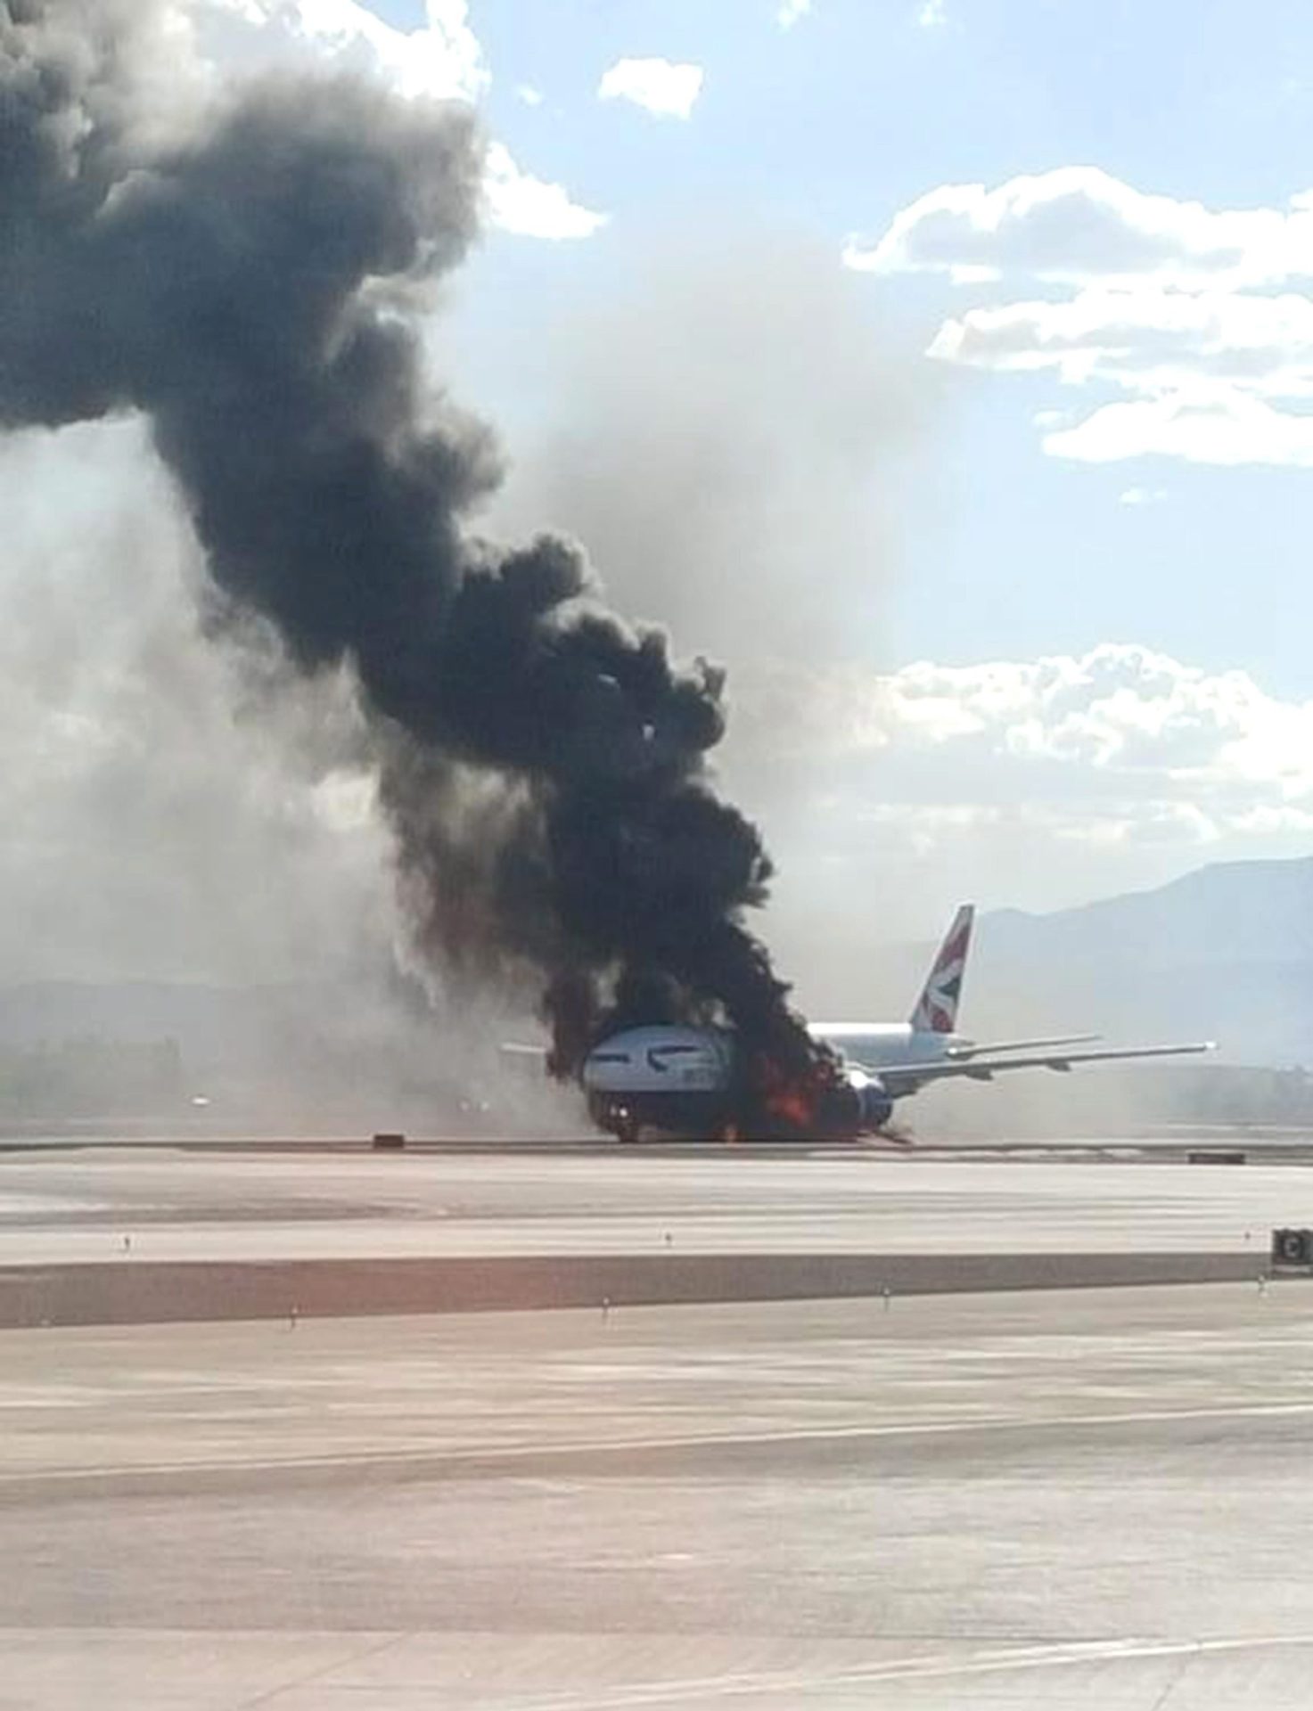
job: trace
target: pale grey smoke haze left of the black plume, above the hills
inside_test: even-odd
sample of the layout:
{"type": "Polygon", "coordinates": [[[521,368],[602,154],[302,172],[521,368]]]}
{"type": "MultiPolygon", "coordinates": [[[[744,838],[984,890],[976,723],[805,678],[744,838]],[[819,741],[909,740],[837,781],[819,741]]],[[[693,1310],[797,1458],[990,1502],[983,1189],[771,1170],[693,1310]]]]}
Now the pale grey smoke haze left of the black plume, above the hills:
{"type": "Polygon", "coordinates": [[[137,419],[0,441],[5,980],[342,980],[389,960],[389,840],[342,674],[216,648],[137,419]]]}

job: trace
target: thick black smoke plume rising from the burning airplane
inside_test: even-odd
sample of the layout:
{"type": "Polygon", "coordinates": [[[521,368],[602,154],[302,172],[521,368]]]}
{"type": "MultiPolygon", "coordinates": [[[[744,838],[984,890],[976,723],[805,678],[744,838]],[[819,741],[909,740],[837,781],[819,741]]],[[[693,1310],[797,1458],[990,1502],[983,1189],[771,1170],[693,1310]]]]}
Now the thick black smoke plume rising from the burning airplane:
{"type": "Polygon", "coordinates": [[[151,123],[144,0],[0,0],[0,426],[142,412],[221,607],[359,684],[438,967],[532,970],[567,1075],[608,1020],[818,1057],[743,912],[757,830],[705,756],[721,674],[606,611],[580,549],[495,549],[495,447],[423,376],[406,291],[476,234],[467,110],[277,79],[151,123]]]}

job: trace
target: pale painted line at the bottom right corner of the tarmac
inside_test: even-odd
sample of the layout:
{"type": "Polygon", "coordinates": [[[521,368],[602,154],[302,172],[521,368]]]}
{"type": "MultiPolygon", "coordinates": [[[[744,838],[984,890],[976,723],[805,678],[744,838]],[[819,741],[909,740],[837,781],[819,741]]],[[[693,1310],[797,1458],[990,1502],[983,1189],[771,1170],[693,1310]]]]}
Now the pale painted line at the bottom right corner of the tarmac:
{"type": "Polygon", "coordinates": [[[837,1670],[748,1670],[740,1675],[686,1677],[668,1682],[635,1682],[599,1694],[589,1689],[587,1697],[577,1692],[532,1694],[498,1701],[505,1711],[625,1711],[630,1706],[659,1706],[680,1701],[690,1694],[702,1699],[738,1699],[748,1694],[810,1692],[818,1687],[866,1687],[878,1682],[948,1680],[971,1675],[1007,1675],[1031,1670],[1080,1668],[1089,1663],[1128,1663],[1152,1658],[1215,1656],[1236,1651],[1279,1651],[1313,1646],[1313,1634],[1257,1634],[1231,1639],[1077,1639],[1056,1641],[1051,1646],[1019,1646],[1003,1651],[974,1651],[965,1656],[933,1653],[928,1656],[892,1658],[885,1663],[849,1665],[837,1670]]]}

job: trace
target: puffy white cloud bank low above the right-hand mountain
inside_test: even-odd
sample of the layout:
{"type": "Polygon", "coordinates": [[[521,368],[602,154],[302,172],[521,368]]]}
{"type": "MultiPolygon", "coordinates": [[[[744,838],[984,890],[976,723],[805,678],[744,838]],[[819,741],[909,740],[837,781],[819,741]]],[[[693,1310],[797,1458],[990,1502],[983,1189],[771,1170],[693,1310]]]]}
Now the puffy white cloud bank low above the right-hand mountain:
{"type": "Polygon", "coordinates": [[[1102,643],[885,676],[799,672],[774,695],[787,717],[762,741],[781,760],[787,743],[827,753],[834,801],[906,814],[923,833],[935,816],[1000,814],[1089,844],[1313,830],[1313,702],[1277,700],[1243,671],[1102,643]]]}

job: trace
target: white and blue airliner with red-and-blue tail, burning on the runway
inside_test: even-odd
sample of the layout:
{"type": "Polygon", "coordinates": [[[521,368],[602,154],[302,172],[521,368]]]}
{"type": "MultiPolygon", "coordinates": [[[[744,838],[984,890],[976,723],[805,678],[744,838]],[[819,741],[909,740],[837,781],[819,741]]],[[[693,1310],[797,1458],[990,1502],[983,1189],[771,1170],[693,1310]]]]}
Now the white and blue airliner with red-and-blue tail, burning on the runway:
{"type": "MultiPolygon", "coordinates": [[[[991,1081],[1007,1069],[1068,1071],[1073,1064],[1214,1049],[1210,1040],[1102,1047],[1094,1045],[1097,1033],[981,1044],[959,1033],[972,924],[974,907],[964,903],[906,1021],[808,1023],[811,1037],[830,1047],[841,1069],[841,1098],[827,1117],[823,1138],[887,1134],[895,1104],[933,1081],[991,1081]]],[[[580,1083],[592,1121],[621,1141],[639,1140],[644,1128],[733,1138],[736,1071],[731,1028],[656,1025],[599,1040],[584,1061],[580,1083]]]]}

